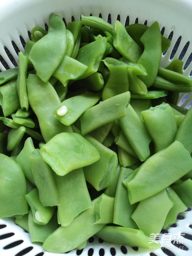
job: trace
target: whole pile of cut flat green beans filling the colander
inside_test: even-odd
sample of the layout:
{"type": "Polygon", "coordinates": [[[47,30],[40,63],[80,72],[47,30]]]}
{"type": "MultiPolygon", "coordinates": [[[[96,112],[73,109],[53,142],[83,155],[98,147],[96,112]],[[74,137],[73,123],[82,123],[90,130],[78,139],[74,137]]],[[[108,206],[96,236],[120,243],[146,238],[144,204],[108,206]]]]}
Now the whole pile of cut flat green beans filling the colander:
{"type": "Polygon", "coordinates": [[[157,21],[48,25],[0,73],[0,218],[53,253],[93,235],[156,247],[192,204],[192,108],[176,106],[192,79],[181,60],[159,66],[157,21]]]}

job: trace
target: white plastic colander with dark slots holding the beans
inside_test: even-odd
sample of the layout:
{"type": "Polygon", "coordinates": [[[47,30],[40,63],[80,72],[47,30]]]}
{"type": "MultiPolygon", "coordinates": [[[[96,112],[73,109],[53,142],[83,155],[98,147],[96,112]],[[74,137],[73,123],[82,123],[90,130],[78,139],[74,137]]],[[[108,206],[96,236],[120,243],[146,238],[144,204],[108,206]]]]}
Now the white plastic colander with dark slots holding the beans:
{"type": "MultiPolygon", "coordinates": [[[[171,39],[171,46],[162,54],[161,66],[172,59],[184,62],[184,74],[192,76],[192,1],[191,0],[0,0],[0,70],[13,68],[18,63],[18,52],[24,51],[34,26],[44,27],[51,12],[66,23],[80,20],[81,14],[100,16],[112,24],[118,19],[124,25],[145,23],[150,26],[158,21],[162,35],[171,39]]],[[[181,93],[178,105],[191,106],[192,94],[181,93]]],[[[163,207],[163,206],[162,206],[163,207]]],[[[156,214],[151,212],[151,214],[156,214]]],[[[163,232],[163,231],[162,231],[163,232]]],[[[166,232],[166,231],[165,231],[166,232]]],[[[108,244],[91,237],[81,251],[73,250],[60,255],[137,255],[137,256],[191,256],[192,210],[178,215],[172,227],[167,229],[170,239],[164,249],[148,250],[124,245],[108,244]],[[173,242],[174,236],[185,234],[181,244],[173,242]]],[[[157,244],[158,245],[158,244],[157,244]]],[[[28,233],[16,226],[12,219],[0,220],[0,256],[54,256],[40,245],[32,244],[28,233]]]]}

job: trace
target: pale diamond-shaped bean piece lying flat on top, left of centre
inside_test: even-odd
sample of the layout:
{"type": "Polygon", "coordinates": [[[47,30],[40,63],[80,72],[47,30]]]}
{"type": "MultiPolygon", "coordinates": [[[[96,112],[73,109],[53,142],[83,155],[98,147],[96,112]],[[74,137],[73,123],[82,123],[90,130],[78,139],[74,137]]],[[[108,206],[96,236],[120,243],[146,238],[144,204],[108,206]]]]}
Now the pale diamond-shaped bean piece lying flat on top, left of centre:
{"type": "Polygon", "coordinates": [[[55,135],[40,148],[40,152],[44,161],[60,176],[100,159],[98,150],[75,132],[55,135]]]}

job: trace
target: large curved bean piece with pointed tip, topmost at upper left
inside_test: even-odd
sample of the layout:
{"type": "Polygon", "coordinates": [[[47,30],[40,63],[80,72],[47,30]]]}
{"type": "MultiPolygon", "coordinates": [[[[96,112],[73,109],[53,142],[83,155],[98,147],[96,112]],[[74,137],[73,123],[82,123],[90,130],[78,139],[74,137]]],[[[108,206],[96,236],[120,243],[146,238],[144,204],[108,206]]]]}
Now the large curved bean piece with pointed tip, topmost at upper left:
{"type": "Polygon", "coordinates": [[[66,50],[65,23],[58,15],[52,13],[49,18],[47,35],[38,40],[29,52],[29,60],[33,63],[36,74],[42,81],[48,82],[62,61],[66,50]]]}

